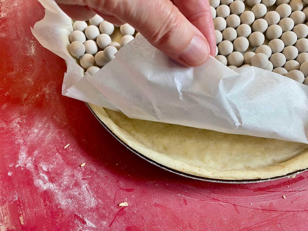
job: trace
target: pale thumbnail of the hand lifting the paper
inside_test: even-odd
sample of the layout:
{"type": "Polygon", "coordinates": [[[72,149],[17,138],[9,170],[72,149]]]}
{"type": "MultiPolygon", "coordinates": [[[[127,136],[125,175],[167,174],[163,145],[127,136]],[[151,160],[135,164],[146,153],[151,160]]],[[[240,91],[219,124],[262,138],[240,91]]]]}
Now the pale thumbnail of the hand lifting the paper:
{"type": "Polygon", "coordinates": [[[186,50],[180,54],[180,58],[190,66],[204,63],[209,57],[209,44],[207,41],[195,35],[186,50]]]}

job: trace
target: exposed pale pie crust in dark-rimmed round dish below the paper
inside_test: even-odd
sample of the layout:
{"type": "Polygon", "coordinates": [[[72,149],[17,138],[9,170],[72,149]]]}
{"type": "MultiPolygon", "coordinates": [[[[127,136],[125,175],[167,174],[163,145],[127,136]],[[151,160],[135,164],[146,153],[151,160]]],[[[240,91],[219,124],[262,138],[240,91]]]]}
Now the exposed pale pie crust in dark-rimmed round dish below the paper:
{"type": "Polygon", "coordinates": [[[288,177],[308,167],[308,144],[130,119],[117,111],[88,106],[130,150],[191,178],[258,182],[288,177]]]}

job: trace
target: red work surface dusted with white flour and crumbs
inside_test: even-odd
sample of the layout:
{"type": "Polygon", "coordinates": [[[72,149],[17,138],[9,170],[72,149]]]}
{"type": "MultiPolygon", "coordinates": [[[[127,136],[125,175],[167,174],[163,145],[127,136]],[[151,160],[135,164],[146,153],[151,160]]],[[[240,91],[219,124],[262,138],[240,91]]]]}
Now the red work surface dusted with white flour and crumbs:
{"type": "Polygon", "coordinates": [[[61,95],[65,63],[30,32],[43,15],[35,0],[0,0],[1,231],[306,230],[306,172],[208,183],[121,146],[85,103],[61,95]]]}

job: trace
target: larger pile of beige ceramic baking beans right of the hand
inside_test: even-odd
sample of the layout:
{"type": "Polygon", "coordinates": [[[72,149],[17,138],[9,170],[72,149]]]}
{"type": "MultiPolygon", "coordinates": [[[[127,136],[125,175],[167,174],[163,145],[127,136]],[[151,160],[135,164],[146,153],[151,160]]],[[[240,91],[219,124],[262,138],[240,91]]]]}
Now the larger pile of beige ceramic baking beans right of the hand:
{"type": "Polygon", "coordinates": [[[216,59],[308,85],[308,0],[209,0],[216,59]]]}

